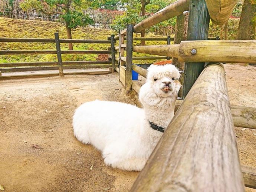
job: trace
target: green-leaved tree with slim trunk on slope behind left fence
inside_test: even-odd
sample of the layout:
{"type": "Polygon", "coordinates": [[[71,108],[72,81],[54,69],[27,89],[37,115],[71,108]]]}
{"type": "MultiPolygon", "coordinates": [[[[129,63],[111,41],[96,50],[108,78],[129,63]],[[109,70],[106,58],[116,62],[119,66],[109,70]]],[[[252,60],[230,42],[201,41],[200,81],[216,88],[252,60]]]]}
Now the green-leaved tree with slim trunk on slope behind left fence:
{"type": "MultiPolygon", "coordinates": [[[[93,24],[90,16],[83,13],[90,3],[86,0],[25,0],[21,4],[24,10],[34,8],[47,15],[59,14],[66,25],[68,39],[72,39],[71,29],[93,24]]],[[[73,50],[72,43],[69,43],[69,50],[73,50]]]]}

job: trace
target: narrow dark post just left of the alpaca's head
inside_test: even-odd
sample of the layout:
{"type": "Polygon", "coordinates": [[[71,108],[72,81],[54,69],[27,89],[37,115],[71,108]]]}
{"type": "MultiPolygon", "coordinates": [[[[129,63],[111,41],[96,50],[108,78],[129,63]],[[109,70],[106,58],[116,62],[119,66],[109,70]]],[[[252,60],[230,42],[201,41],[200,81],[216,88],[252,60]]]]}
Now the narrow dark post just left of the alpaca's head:
{"type": "Polygon", "coordinates": [[[132,90],[132,40],[133,24],[127,25],[126,34],[126,72],[125,72],[125,89],[126,93],[132,90]]]}

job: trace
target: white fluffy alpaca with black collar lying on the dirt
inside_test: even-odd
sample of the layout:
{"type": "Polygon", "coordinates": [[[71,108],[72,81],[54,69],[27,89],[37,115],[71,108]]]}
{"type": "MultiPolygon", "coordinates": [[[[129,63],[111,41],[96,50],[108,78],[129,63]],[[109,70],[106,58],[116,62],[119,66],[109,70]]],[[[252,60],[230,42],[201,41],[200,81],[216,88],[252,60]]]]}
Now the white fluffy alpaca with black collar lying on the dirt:
{"type": "Polygon", "coordinates": [[[73,116],[74,135],[101,150],[106,165],[141,171],[174,116],[181,87],[174,79],[179,77],[172,64],[151,65],[139,94],[144,109],[119,102],[86,102],[73,116]],[[157,126],[163,129],[155,130],[157,126]]]}

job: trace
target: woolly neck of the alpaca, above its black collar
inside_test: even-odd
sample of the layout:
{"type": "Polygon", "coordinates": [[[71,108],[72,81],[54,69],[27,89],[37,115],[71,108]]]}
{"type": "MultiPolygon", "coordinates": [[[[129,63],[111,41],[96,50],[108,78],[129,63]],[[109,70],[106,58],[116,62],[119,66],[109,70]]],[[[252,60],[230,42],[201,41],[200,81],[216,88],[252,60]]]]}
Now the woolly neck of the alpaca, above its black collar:
{"type": "Polygon", "coordinates": [[[144,106],[146,120],[166,129],[173,119],[174,106],[175,99],[166,97],[155,106],[144,106]]]}

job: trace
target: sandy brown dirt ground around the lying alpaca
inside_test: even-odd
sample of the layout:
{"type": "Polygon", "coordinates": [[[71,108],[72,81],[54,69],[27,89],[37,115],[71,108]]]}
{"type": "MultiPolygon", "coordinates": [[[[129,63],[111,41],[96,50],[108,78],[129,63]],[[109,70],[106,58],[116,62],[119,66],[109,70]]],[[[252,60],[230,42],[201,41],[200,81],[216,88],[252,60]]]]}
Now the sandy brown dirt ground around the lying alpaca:
{"type": "MultiPolygon", "coordinates": [[[[232,105],[256,107],[256,67],[226,65],[226,78],[232,105]]],[[[125,96],[117,73],[0,81],[0,185],[6,192],[131,188],[138,172],[105,166],[98,150],[73,136],[74,110],[95,99],[138,102],[125,96]]],[[[256,130],[235,131],[241,163],[256,167],[256,130]]]]}

